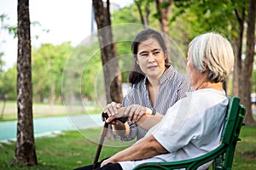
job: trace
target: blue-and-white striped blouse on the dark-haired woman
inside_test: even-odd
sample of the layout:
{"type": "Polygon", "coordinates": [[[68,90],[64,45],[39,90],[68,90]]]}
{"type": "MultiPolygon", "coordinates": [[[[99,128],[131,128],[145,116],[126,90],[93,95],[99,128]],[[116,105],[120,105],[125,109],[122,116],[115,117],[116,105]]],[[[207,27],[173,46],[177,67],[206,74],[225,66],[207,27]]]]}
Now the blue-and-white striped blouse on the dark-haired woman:
{"type": "MultiPolygon", "coordinates": [[[[143,105],[153,109],[146,86],[146,78],[137,84],[131,85],[123,99],[123,105],[125,107],[129,105],[143,105]]],[[[154,101],[154,110],[162,115],[166,115],[168,108],[175,104],[178,99],[185,97],[185,92],[189,91],[193,91],[193,88],[189,85],[186,75],[178,73],[171,65],[160,77],[160,88],[154,101]]],[[[116,135],[117,138],[128,141],[137,137],[138,140],[142,139],[148,132],[133,122],[128,122],[128,124],[130,126],[128,136],[120,137],[116,135]]]]}

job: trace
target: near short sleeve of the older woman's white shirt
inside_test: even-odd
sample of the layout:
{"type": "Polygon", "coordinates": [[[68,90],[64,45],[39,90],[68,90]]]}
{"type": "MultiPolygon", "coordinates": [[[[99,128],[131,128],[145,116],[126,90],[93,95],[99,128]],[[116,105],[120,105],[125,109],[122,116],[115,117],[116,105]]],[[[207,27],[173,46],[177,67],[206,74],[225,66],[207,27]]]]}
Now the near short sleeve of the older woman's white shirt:
{"type": "Polygon", "coordinates": [[[196,117],[196,112],[199,113],[189,98],[179,100],[154,127],[152,135],[169,152],[183,148],[201,133],[201,117],[196,117]]]}

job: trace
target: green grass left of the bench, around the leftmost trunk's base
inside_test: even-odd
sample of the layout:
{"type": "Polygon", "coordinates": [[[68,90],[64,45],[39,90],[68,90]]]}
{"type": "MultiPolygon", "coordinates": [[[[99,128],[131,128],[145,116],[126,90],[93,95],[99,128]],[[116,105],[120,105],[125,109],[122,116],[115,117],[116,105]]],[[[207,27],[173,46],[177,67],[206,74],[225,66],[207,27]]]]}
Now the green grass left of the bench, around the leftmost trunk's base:
{"type": "MultiPolygon", "coordinates": [[[[86,130],[90,138],[100,136],[102,128],[86,130]]],[[[96,140],[98,141],[98,140],[96,140]]],[[[100,160],[112,156],[125,147],[102,147],[100,160]]],[[[0,146],[0,169],[73,169],[91,164],[96,154],[97,144],[84,138],[77,131],[67,131],[55,138],[36,139],[36,153],[38,166],[22,167],[12,166],[15,156],[15,144],[2,144],[0,146]]]]}

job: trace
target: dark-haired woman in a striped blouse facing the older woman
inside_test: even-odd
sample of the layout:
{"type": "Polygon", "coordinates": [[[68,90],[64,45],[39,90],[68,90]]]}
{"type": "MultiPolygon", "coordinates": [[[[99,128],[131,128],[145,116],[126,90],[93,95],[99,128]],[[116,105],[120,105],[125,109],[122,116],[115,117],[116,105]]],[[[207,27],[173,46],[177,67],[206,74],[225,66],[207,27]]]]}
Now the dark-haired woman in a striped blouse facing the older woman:
{"type": "Polygon", "coordinates": [[[125,107],[124,115],[129,116],[125,123],[110,122],[113,133],[124,141],[137,137],[142,139],[151,124],[137,126],[135,122],[143,114],[154,115],[161,119],[168,108],[185,93],[193,91],[185,74],[178,73],[167,57],[166,43],[160,32],[147,29],[139,32],[131,45],[134,69],[129,75],[131,88],[122,104],[112,102],[104,108],[108,116],[114,116],[118,109],[125,107]]]}

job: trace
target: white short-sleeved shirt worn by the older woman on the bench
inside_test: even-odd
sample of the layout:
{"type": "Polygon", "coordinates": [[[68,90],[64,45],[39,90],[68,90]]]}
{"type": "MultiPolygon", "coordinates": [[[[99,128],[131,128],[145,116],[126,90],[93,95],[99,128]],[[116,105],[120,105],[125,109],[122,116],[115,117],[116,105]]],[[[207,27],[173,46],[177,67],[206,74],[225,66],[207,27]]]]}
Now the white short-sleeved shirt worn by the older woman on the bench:
{"type": "Polygon", "coordinates": [[[215,149],[228,102],[224,91],[212,88],[187,93],[187,97],[177,101],[147,133],[170,153],[142,161],[121,161],[121,167],[125,170],[144,162],[186,160],[215,149]]]}

